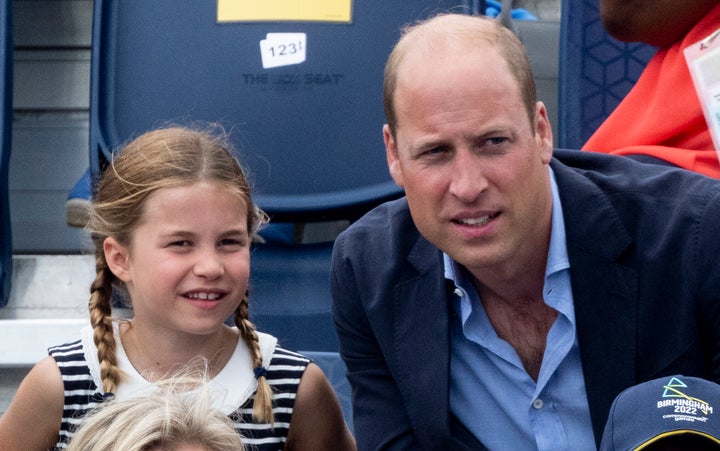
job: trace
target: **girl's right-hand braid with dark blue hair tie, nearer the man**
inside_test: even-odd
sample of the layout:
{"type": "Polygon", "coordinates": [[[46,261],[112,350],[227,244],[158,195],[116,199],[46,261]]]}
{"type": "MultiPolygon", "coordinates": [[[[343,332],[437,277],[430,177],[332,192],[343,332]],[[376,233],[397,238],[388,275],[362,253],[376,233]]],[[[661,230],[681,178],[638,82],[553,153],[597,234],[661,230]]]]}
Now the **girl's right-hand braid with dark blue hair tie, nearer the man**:
{"type": "MultiPolygon", "coordinates": [[[[245,292],[240,305],[235,310],[235,325],[240,330],[245,344],[250,348],[252,354],[253,369],[262,368],[262,354],[260,352],[260,343],[258,342],[255,326],[250,322],[248,310],[248,292],[245,292]]],[[[253,403],[253,418],[263,423],[275,422],[272,410],[272,389],[265,377],[265,374],[257,376],[258,387],[255,393],[255,402],[253,403]]]]}

